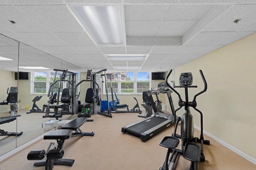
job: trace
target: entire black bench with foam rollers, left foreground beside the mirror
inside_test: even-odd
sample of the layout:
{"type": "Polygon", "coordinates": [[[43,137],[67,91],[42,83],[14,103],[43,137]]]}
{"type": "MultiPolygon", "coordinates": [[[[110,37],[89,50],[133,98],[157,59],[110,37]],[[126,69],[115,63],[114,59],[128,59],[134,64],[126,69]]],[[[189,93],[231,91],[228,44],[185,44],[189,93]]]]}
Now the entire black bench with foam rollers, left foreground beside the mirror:
{"type": "Polygon", "coordinates": [[[45,166],[46,170],[52,170],[54,165],[64,165],[64,166],[72,166],[74,164],[73,159],[62,159],[64,156],[63,144],[64,141],[70,137],[75,136],[94,136],[94,132],[87,133],[82,132],[80,127],[86,122],[86,117],[79,117],[70,123],[62,126],[61,129],[55,130],[48,134],[44,135],[44,139],[55,139],[57,140],[58,147],[50,148],[54,145],[54,143],[50,143],[48,149],[45,150],[31,150],[28,153],[28,160],[39,160],[34,163],[34,166],[45,166]],[[73,130],[75,131],[73,133],[73,130]],[[78,132],[79,131],[79,132],[78,132]],[[46,160],[42,160],[46,156],[46,160]]]}

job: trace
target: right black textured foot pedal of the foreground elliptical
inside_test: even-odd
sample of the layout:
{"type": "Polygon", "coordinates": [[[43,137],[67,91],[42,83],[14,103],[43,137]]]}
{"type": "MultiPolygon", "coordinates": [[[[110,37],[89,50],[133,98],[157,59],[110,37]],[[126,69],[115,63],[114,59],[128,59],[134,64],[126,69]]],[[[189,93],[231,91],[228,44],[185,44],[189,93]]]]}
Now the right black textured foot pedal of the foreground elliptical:
{"type": "Polygon", "coordinates": [[[183,157],[192,162],[200,162],[200,146],[198,144],[188,142],[185,144],[183,157]]]}

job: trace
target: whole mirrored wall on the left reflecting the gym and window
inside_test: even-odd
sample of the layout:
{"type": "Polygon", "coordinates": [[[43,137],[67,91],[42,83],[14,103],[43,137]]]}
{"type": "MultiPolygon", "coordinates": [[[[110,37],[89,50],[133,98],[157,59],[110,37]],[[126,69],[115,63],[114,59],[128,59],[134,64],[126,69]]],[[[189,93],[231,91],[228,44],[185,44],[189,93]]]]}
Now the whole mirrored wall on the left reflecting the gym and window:
{"type": "MultiPolygon", "coordinates": [[[[0,156],[51,130],[42,125],[55,118],[43,118],[46,115],[45,111],[29,112],[34,101],[41,111],[43,105],[48,103],[49,97],[45,92],[53,82],[54,69],[68,69],[70,72],[77,73],[78,77],[81,71],[80,67],[0,34],[0,101],[6,104],[10,87],[18,87],[15,114],[20,115],[9,123],[1,121],[0,156]],[[28,76],[20,77],[21,72],[27,73],[28,76]],[[2,135],[5,132],[15,132],[19,135],[2,135]]],[[[7,104],[0,105],[0,117],[10,116],[10,103],[7,104]]]]}

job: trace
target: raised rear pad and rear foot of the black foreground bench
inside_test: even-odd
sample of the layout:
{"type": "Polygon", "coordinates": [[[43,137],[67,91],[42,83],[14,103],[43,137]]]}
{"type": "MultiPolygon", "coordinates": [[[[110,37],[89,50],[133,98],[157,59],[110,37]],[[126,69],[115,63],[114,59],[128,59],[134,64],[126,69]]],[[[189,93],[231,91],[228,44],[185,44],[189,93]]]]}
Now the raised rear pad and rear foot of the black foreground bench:
{"type": "Polygon", "coordinates": [[[76,136],[94,136],[94,132],[82,132],[80,127],[87,121],[87,117],[78,117],[74,121],[67,123],[66,125],[62,126],[61,129],[71,129],[74,132],[72,133],[71,137],[76,136]]]}

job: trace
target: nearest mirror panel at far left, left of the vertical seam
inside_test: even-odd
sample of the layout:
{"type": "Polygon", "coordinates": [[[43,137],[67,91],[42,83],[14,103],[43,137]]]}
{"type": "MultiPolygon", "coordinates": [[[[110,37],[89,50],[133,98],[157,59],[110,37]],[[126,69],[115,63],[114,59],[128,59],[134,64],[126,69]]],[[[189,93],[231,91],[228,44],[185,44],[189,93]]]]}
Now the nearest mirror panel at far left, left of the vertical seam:
{"type": "Polygon", "coordinates": [[[16,148],[16,136],[19,138],[21,131],[17,129],[20,117],[18,96],[18,46],[19,42],[0,34],[0,155],[16,148]],[[19,131],[17,134],[16,131],[19,131]]]}

